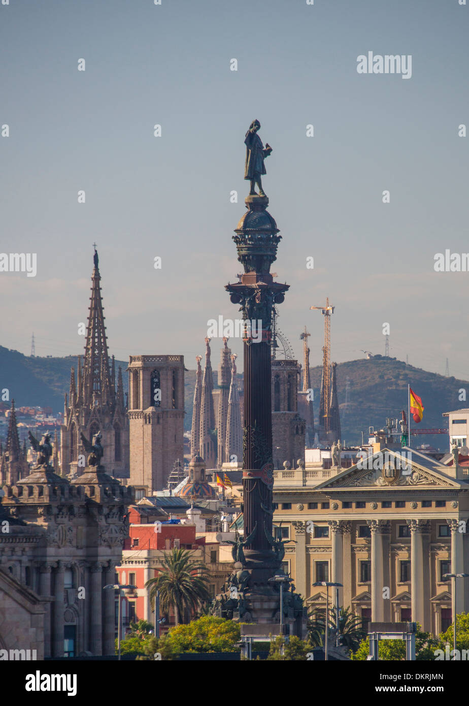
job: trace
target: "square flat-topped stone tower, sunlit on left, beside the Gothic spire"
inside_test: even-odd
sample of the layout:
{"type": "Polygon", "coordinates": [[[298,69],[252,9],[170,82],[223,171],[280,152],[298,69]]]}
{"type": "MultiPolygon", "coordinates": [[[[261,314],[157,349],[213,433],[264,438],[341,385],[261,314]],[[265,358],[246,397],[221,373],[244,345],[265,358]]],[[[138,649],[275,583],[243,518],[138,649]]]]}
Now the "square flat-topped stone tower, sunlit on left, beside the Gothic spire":
{"type": "Polygon", "coordinates": [[[184,458],[184,357],[130,356],[130,484],[163,490],[184,458]]]}

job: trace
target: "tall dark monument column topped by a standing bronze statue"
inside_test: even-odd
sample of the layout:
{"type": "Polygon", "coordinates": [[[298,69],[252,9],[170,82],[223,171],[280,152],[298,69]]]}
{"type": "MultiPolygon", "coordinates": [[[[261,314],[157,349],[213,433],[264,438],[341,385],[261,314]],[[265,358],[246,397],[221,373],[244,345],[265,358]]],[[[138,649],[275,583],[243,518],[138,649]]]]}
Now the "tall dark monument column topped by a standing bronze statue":
{"type": "Polygon", "coordinates": [[[281,570],[285,542],[273,534],[272,489],[272,398],[271,339],[272,307],[284,301],[289,285],[274,282],[270,267],[276,260],[281,236],[267,211],[269,199],[262,189],[266,174],[264,159],[272,152],[257,134],[259,121],[252,121],[245,136],[245,179],[250,193],[246,213],[236,227],[233,240],[244,272],[240,281],[226,285],[233,304],[239,304],[244,329],[244,435],[243,435],[243,537],[233,544],[233,573],[224,593],[214,602],[214,613],[241,623],[243,634],[272,635],[303,631],[303,602],[281,570]],[[255,186],[259,192],[256,193],[255,186]],[[249,322],[262,321],[262,337],[252,337],[249,322]],[[277,577],[276,580],[270,580],[277,577]],[[279,580],[280,578],[280,580],[279,580]],[[280,621],[280,586],[283,583],[283,619],[280,621]],[[262,627],[261,627],[262,626],[262,627]],[[251,632],[250,632],[251,630],[251,632]]]}

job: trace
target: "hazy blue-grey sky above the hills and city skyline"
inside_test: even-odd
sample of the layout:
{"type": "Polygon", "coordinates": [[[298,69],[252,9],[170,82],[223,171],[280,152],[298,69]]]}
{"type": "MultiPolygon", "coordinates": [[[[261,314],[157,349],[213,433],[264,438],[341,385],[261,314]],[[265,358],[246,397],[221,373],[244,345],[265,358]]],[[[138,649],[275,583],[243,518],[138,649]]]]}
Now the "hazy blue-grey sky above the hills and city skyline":
{"type": "MultiPolygon", "coordinates": [[[[207,321],[240,316],[224,285],[240,272],[231,237],[259,119],[296,356],[306,325],[322,362],[310,306],[329,297],[333,360],[384,354],[388,323],[391,356],[441,374],[448,358],[469,379],[469,273],[434,270],[436,253],[469,250],[468,13],[459,0],[0,4],[0,251],[37,253],[35,277],[0,272],[0,345],[30,354],[34,331],[38,356],[83,352],[96,242],[110,352],[184,354],[193,369],[207,321]],[[410,78],[358,73],[368,52],[410,55],[410,78]]],[[[242,370],[242,342],[229,345],[242,370]]]]}

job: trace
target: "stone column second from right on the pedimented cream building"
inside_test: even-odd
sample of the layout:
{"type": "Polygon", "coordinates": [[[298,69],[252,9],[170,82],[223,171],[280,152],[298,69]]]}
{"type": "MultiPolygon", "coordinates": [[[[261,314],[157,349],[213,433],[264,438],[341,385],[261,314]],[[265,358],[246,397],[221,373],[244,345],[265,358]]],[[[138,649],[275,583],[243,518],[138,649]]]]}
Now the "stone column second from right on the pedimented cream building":
{"type": "Polygon", "coordinates": [[[430,630],[430,525],[425,520],[407,520],[410,527],[410,580],[412,620],[430,630]]]}

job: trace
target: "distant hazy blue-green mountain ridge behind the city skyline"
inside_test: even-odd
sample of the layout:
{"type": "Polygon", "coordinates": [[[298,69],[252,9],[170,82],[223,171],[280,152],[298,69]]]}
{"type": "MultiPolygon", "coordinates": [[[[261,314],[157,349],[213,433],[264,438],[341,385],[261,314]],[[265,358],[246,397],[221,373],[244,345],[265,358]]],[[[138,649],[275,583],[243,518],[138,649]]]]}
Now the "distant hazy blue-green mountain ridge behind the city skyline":
{"type": "MultiPolygon", "coordinates": [[[[0,390],[8,388],[10,400],[16,405],[52,407],[54,412],[63,411],[63,395],[68,393],[70,369],[77,367],[78,357],[39,358],[0,346],[0,390]]],[[[123,373],[127,361],[117,361],[123,373]]],[[[311,385],[315,390],[315,424],[318,424],[319,386],[322,366],[310,370],[311,385]]],[[[336,368],[337,391],[341,411],[342,439],[348,444],[361,442],[361,432],[367,437],[368,427],[381,427],[386,417],[400,416],[401,409],[407,410],[407,385],[415,390],[425,407],[420,425],[422,429],[442,428],[446,419],[443,412],[462,409],[469,402],[460,400],[460,390],[469,394],[469,381],[446,378],[406,365],[394,358],[374,357],[370,360],[358,359],[339,363],[336,368]],[[349,403],[346,405],[346,381],[349,384],[349,403]]],[[[241,376],[242,377],[242,376],[241,376]]],[[[128,376],[123,374],[124,392],[128,390],[128,376]]],[[[184,429],[190,429],[195,385],[195,370],[185,373],[185,420],[184,429]]],[[[214,386],[217,387],[217,373],[214,372],[214,386]]],[[[411,426],[414,426],[411,422],[411,426]]],[[[417,425],[415,425],[417,426],[417,425]]],[[[441,449],[448,447],[448,437],[417,436],[415,445],[432,443],[441,449]]]]}

